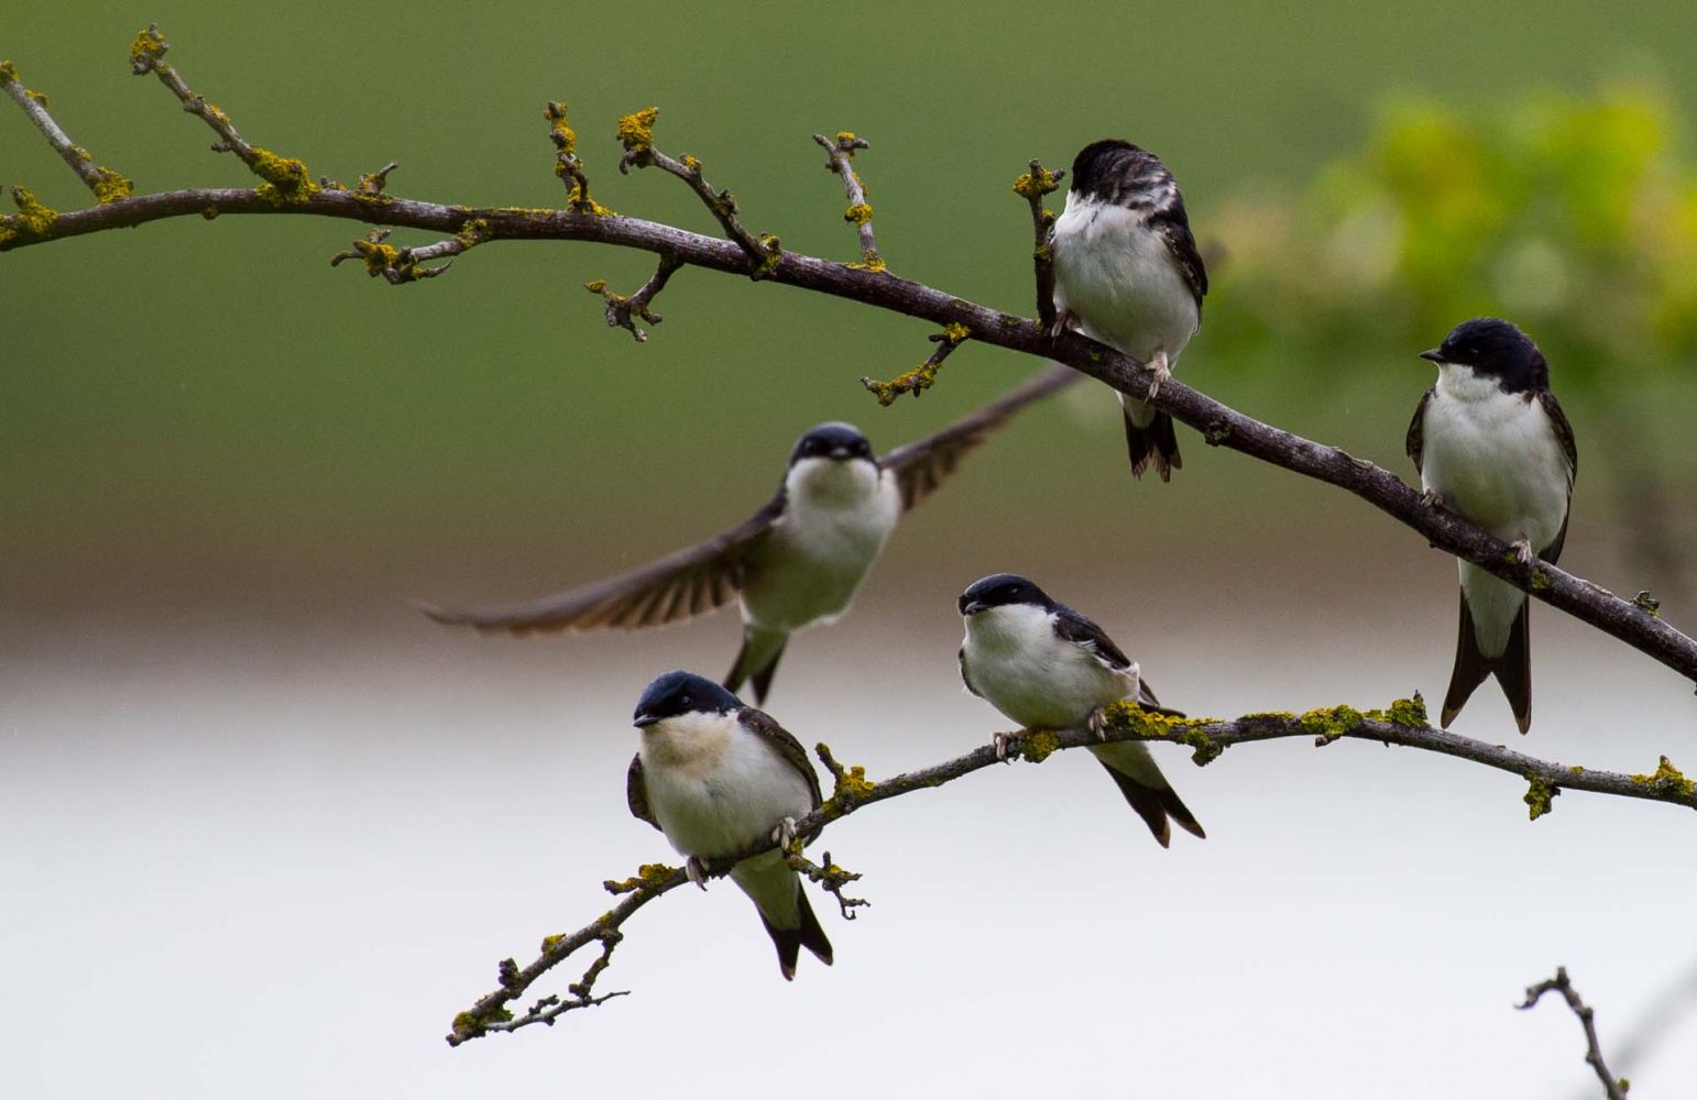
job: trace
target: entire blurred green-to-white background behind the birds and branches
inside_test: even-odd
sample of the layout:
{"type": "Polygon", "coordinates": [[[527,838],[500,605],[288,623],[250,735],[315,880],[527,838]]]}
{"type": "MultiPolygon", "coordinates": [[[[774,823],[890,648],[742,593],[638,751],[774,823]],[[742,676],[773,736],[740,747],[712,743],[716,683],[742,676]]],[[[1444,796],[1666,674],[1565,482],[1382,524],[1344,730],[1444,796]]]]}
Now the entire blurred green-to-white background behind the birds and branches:
{"type": "MultiPolygon", "coordinates": [[[[699,156],[753,231],[847,261],[811,134],[854,129],[891,268],[1022,314],[1015,175],[1130,137],[1218,256],[1185,381],[1412,478],[1415,353],[1514,317],[1578,434],[1563,564],[1697,619],[1689,3],[12,5],[0,58],[141,192],[253,181],[129,75],[151,19],[253,142],[350,181],[394,159],[392,192],[438,202],[558,205],[553,98],[596,198],[713,232],[677,180],[613,168],[614,119],[657,105],[660,147],[699,156]]],[[[88,202],[10,103],[0,183],[88,202]]],[[[1529,825],[1514,776],[1295,742],[1207,771],[1168,754],[1210,831],[1173,851],[1076,759],[857,815],[832,844],[877,908],[830,919],[833,971],[782,986],[742,900],[691,892],[621,947],[640,997],[448,1053],[494,959],[665,858],[624,815],[630,700],[662,668],[718,673],[736,631],[511,642],[402,598],[635,566],[743,519],[806,425],[888,449],[1039,364],[969,344],[879,408],[857,380],[921,359],[928,325],[686,269],[638,346],[582,285],[628,290],[647,256],[504,242],[395,288],[328,266],[360,232],[183,219],[0,254],[0,942],[27,946],[0,966],[34,992],[0,1003],[20,1049],[0,1092],[10,1069],[66,1097],[611,1095],[633,1073],[647,1095],[770,1095],[772,1075],[864,1095],[820,1071],[818,1034],[833,1064],[937,1093],[1590,1093],[1571,1019],[1509,1010],[1553,963],[1610,1041],[1641,1039],[1617,1068],[1644,1095],[1690,1080],[1683,819],[1570,795],[1529,825]],[[126,1012],[90,1022],[104,1003],[126,1012]],[[752,1034],[777,1036],[769,1061],[726,1058],[752,1034]]],[[[1193,712],[1441,693],[1448,558],[1183,446],[1171,485],[1134,483],[1100,386],[1025,414],[903,524],[842,625],[791,646],[774,714],[872,775],[979,744],[998,720],[959,692],[954,595],[1003,568],[1193,712]]],[[[1529,753],[1690,771],[1689,683],[1534,619],[1529,753]]],[[[1458,724],[1512,729],[1488,685],[1458,724]]]]}

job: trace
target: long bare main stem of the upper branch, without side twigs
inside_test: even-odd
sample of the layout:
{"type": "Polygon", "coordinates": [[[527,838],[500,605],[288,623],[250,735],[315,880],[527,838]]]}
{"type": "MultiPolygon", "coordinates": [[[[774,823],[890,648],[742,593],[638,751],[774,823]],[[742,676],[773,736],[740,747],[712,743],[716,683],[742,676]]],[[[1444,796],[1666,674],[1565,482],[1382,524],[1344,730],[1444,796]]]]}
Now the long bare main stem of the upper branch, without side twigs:
{"type": "MultiPolygon", "coordinates": [[[[0,231],[0,251],[75,237],[105,229],[141,225],[168,217],[207,214],[316,214],[355,222],[409,225],[456,234],[482,222],[484,241],[594,241],[650,253],[670,253],[684,264],[748,275],[742,246],[633,217],[596,217],[570,210],[470,208],[384,197],[372,202],[353,192],[316,190],[299,202],[275,203],[255,190],[185,190],[141,195],[122,202],[41,219],[39,232],[0,231]]],[[[798,253],[774,251],[765,275],[777,283],[874,305],[938,325],[957,324],[986,344],[1057,359],[1137,400],[1149,400],[1142,364],[1083,336],[1050,334],[1044,325],[993,310],[889,273],[872,273],[798,253]]],[[[1465,558],[1532,597],[1649,654],[1697,681],[1697,642],[1656,614],[1548,563],[1521,566],[1507,542],[1453,512],[1425,505],[1400,478],[1339,447],[1285,432],[1191,390],[1178,380],[1161,385],[1152,402],[1176,420],[1203,432],[1208,442],[1249,454],[1361,497],[1412,527],[1427,542],[1465,558]]]]}

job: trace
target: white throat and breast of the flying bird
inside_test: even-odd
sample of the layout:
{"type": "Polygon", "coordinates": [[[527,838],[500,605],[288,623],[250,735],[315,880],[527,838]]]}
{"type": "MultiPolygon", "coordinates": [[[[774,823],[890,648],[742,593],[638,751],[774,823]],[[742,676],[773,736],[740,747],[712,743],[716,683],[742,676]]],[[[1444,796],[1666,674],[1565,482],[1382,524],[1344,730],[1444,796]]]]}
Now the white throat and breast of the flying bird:
{"type": "Polygon", "coordinates": [[[876,463],[804,458],[784,481],[784,515],[750,561],[743,615],[770,631],[832,622],[901,515],[894,475],[876,463]]]}

